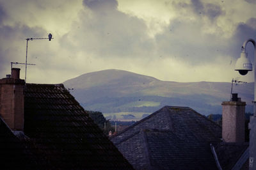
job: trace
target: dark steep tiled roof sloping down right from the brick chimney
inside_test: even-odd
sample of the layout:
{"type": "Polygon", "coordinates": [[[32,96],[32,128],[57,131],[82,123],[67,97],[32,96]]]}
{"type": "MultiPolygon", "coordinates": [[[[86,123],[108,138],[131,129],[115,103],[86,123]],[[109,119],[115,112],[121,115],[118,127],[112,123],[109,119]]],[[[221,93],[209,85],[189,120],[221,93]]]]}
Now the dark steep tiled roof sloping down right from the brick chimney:
{"type": "Polygon", "coordinates": [[[24,95],[28,137],[18,139],[1,123],[0,147],[21,147],[15,151],[34,159],[31,169],[132,169],[63,84],[26,84],[24,95]]]}

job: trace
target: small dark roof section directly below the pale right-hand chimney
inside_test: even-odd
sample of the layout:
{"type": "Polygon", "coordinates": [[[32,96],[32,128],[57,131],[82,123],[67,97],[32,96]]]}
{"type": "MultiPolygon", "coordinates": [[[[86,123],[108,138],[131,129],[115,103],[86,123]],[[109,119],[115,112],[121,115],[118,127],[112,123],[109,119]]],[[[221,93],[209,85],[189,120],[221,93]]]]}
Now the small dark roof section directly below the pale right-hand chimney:
{"type": "MultiPolygon", "coordinates": [[[[222,169],[232,169],[237,160],[243,155],[248,148],[248,143],[217,143],[214,144],[214,149],[218,156],[218,160],[222,169]]],[[[246,162],[248,163],[248,162],[246,162]]],[[[248,167],[248,166],[247,166],[248,167]]]]}

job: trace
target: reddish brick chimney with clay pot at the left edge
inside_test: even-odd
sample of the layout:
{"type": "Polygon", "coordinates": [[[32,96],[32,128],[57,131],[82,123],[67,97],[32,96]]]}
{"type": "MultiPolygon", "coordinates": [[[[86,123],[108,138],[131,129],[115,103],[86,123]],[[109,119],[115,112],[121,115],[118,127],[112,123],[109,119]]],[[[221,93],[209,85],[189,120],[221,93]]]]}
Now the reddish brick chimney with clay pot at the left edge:
{"type": "Polygon", "coordinates": [[[20,68],[12,68],[12,75],[0,79],[0,116],[12,130],[24,128],[24,85],[20,68]]]}

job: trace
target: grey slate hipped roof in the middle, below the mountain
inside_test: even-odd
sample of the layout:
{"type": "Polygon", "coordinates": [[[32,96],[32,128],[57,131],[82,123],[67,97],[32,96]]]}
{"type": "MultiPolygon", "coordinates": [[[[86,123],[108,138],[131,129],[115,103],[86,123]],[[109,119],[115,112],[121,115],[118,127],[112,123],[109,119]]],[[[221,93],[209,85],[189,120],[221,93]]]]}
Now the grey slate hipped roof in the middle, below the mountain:
{"type": "Polygon", "coordinates": [[[218,169],[221,127],[189,107],[165,106],[111,137],[135,169],[218,169]]]}

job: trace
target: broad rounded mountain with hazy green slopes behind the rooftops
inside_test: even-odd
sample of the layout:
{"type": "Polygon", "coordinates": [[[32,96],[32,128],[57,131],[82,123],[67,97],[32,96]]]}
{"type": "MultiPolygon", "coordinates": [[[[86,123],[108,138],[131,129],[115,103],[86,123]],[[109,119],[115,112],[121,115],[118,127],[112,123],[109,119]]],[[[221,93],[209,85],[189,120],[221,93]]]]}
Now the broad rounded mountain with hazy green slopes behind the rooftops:
{"type": "MultiPolygon", "coordinates": [[[[85,73],[63,82],[84,109],[104,116],[124,118],[157,111],[164,105],[188,106],[201,114],[221,114],[221,103],[230,100],[231,82],[173,82],[124,70],[85,73]],[[127,116],[126,116],[127,117],[127,116]]],[[[253,82],[233,86],[233,93],[252,112],[253,82]]]]}

